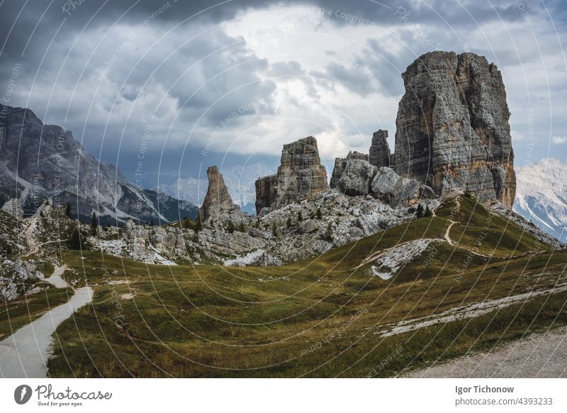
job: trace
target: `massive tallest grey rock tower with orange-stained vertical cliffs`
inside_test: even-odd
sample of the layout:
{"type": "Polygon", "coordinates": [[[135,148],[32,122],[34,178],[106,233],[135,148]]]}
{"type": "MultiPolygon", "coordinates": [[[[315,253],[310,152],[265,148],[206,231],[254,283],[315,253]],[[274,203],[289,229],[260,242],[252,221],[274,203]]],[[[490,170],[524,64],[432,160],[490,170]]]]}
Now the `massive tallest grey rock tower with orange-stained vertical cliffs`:
{"type": "Polygon", "coordinates": [[[395,133],[398,175],[439,196],[463,189],[508,208],[516,192],[502,75],[473,53],[432,52],[403,74],[395,133]]]}

